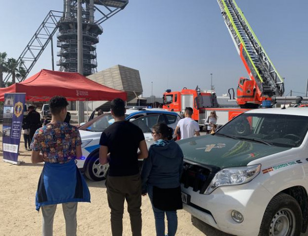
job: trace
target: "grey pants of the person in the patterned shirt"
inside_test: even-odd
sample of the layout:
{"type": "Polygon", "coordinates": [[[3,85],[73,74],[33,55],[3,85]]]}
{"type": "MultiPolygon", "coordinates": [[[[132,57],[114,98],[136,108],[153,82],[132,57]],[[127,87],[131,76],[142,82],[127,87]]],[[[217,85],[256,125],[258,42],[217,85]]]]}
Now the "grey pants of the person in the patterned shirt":
{"type": "MultiPolygon", "coordinates": [[[[63,203],[62,209],[65,218],[66,236],[76,236],[77,231],[77,205],[78,203],[63,203]]],[[[53,217],[56,210],[56,205],[42,206],[43,214],[43,236],[52,236],[53,233],[53,217]]]]}

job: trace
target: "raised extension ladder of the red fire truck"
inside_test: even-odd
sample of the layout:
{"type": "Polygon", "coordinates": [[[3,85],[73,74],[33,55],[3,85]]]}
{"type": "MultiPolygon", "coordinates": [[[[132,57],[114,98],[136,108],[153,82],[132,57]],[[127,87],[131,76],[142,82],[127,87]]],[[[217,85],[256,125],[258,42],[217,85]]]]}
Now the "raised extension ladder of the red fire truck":
{"type": "Polygon", "coordinates": [[[251,71],[251,73],[248,71],[250,79],[257,83],[263,95],[282,96],[283,78],[269,60],[243,12],[234,0],[217,0],[217,2],[236,49],[243,55],[251,71]]]}

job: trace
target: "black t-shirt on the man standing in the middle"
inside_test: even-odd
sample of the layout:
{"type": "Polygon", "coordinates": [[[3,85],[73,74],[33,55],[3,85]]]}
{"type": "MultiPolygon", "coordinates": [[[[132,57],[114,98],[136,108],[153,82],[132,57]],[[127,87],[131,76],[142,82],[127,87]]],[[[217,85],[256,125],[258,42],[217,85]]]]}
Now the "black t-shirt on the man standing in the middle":
{"type": "Polygon", "coordinates": [[[139,173],[137,152],[142,140],[144,140],[142,130],[129,121],[114,122],[104,130],[100,145],[107,146],[110,152],[110,176],[139,173]]]}

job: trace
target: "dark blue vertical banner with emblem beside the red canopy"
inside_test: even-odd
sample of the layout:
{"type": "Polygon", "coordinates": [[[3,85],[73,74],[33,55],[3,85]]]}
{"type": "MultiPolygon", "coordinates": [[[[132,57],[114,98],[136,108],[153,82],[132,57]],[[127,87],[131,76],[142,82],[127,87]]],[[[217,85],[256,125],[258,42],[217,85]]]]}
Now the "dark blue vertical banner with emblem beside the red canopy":
{"type": "Polygon", "coordinates": [[[4,94],[3,107],[3,161],[17,164],[24,118],[26,93],[4,94]]]}

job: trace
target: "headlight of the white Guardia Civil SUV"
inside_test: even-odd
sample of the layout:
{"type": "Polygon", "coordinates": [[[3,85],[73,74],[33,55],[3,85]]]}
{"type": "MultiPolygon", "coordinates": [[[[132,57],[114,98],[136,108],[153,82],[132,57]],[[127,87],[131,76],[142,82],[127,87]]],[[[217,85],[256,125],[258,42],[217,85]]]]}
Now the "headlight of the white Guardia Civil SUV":
{"type": "Polygon", "coordinates": [[[210,194],[220,186],[240,185],[248,183],[260,173],[261,165],[229,167],[218,171],[204,194],[210,194]]]}

